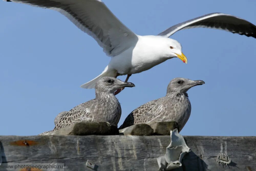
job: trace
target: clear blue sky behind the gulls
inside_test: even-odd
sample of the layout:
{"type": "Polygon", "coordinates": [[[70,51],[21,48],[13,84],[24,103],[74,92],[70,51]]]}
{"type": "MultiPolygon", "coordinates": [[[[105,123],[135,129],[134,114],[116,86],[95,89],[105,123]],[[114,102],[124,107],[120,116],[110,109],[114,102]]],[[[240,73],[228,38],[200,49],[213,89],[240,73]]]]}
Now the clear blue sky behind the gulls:
{"type": "MultiPolygon", "coordinates": [[[[138,35],[211,12],[256,24],[256,1],[104,1],[138,35]]],[[[0,1],[0,135],[37,135],[54,128],[54,118],[95,97],[80,85],[110,61],[96,41],[56,11],[0,1]]],[[[206,84],[188,91],[192,105],[182,135],[256,136],[256,39],[214,29],[188,29],[171,38],[188,58],[170,59],[134,74],[117,95],[125,117],[145,102],[165,96],[170,80],[206,84]],[[153,84],[147,84],[147,83],[153,84]]],[[[119,77],[121,80],[125,76],[119,77]]]]}

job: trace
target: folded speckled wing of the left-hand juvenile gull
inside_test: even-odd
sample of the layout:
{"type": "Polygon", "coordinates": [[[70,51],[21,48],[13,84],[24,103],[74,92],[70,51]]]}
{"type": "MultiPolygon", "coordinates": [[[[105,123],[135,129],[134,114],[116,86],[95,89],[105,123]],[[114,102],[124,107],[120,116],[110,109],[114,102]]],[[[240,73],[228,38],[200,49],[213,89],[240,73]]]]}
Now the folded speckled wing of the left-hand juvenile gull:
{"type": "Polygon", "coordinates": [[[93,116],[90,117],[90,109],[84,107],[84,103],[71,109],[66,113],[60,121],[56,124],[53,130],[57,130],[68,125],[80,122],[80,121],[92,121],[93,116]]]}

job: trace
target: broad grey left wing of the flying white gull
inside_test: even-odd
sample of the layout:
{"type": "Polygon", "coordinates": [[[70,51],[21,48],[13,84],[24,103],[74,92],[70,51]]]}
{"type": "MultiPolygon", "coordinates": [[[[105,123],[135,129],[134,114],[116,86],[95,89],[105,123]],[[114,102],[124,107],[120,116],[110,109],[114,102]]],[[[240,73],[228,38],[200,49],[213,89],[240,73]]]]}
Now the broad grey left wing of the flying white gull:
{"type": "Polygon", "coordinates": [[[100,0],[5,0],[53,9],[92,36],[108,56],[116,56],[136,43],[137,36],[100,0]]]}

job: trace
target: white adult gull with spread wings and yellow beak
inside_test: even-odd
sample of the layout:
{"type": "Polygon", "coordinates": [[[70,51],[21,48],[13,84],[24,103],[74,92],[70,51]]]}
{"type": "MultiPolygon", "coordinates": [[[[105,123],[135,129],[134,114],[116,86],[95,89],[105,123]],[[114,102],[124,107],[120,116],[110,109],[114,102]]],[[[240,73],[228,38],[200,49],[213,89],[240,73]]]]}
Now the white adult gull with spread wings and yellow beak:
{"type": "MultiPolygon", "coordinates": [[[[117,77],[148,70],[167,59],[178,57],[187,63],[182,46],[170,37],[188,28],[205,27],[238,33],[256,38],[256,26],[241,18],[211,13],[176,24],[156,36],[140,36],[133,33],[100,0],[5,0],[59,11],[83,32],[92,36],[111,57],[104,71],[93,80],[81,85],[94,88],[104,76],[117,77]]],[[[121,91],[117,91],[118,94],[121,91]]]]}

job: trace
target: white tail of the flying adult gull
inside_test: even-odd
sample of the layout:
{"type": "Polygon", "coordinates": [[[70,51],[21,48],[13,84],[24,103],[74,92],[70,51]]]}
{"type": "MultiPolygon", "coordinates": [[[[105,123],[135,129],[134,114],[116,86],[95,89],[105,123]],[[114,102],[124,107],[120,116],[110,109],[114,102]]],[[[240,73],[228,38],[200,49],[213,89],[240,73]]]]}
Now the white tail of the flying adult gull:
{"type": "Polygon", "coordinates": [[[82,88],[95,88],[95,84],[97,83],[97,81],[99,81],[102,77],[106,77],[106,76],[109,76],[109,77],[116,77],[116,74],[117,72],[115,70],[110,70],[108,68],[108,66],[104,69],[104,71],[99,75],[97,76],[96,78],[94,78],[93,80],[87,82],[87,83],[84,83],[83,85],[81,85],[80,87],[82,88]]]}

